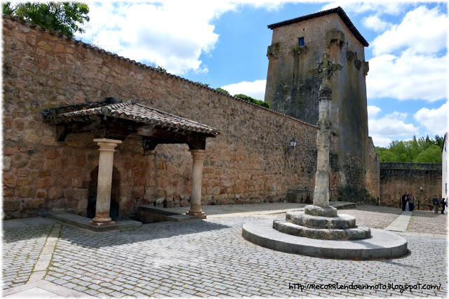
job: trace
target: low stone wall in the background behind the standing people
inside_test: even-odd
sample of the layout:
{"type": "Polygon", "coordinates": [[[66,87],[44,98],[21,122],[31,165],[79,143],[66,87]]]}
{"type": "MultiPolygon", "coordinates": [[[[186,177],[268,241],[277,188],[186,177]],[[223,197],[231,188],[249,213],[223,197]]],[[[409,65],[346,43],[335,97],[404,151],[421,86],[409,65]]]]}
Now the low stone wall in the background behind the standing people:
{"type": "MultiPolygon", "coordinates": [[[[441,199],[441,164],[380,163],[380,203],[399,207],[405,192],[415,194],[421,210],[431,210],[431,199],[441,199]],[[422,187],[422,190],[421,190],[422,187]]],[[[417,203],[415,203],[417,206],[417,203]]]]}

